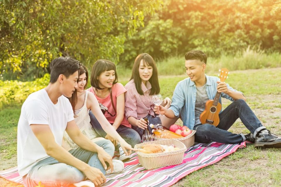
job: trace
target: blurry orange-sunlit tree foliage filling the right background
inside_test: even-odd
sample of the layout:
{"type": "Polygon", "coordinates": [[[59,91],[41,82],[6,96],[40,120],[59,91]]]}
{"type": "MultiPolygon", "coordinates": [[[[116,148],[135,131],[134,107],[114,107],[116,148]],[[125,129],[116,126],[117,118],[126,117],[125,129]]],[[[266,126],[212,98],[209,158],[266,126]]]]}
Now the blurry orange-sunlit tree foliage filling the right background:
{"type": "Polygon", "coordinates": [[[281,50],[280,0],[167,0],[126,40],[121,62],[131,65],[144,52],[163,58],[201,49],[220,56],[248,46],[281,50]]]}

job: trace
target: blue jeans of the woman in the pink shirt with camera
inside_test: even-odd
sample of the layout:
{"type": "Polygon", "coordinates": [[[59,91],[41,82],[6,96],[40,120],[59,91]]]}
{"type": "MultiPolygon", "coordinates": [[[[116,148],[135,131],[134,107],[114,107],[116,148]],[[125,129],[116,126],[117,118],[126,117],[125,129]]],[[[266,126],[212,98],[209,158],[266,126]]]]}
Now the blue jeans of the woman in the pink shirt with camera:
{"type": "MultiPolygon", "coordinates": [[[[100,137],[104,138],[107,133],[102,129],[102,126],[97,121],[97,118],[92,113],[92,111],[89,112],[89,115],[90,115],[92,127],[95,129],[95,131],[97,132],[97,134],[100,137]]],[[[131,129],[124,125],[120,125],[116,131],[132,147],[134,147],[136,144],[140,143],[140,136],[138,135],[138,132],[135,131],[134,129],[131,129]]]]}

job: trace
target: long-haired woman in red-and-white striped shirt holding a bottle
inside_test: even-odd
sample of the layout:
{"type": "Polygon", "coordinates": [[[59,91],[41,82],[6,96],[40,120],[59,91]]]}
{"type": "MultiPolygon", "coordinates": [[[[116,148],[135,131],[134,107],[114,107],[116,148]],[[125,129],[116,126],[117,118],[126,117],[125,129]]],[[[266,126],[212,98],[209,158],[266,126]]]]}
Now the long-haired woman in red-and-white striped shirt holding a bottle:
{"type": "MultiPolygon", "coordinates": [[[[149,54],[143,53],[137,56],[133,65],[131,80],[125,85],[125,88],[127,89],[125,114],[128,122],[140,134],[140,137],[145,128],[150,129],[144,120],[145,117],[148,118],[149,123],[162,124],[167,128],[177,121],[177,119],[169,119],[166,116],[155,116],[153,112],[152,96],[159,94],[160,87],[157,67],[149,54]]],[[[167,97],[161,105],[169,108],[171,103],[171,99],[167,97]]]]}

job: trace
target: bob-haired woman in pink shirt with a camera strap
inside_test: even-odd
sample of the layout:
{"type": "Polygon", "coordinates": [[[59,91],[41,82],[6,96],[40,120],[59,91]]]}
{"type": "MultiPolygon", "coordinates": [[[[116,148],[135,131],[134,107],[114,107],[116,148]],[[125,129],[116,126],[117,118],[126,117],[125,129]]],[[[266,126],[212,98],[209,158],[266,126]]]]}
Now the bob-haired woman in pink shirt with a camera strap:
{"type": "MultiPolygon", "coordinates": [[[[115,64],[109,60],[97,60],[92,68],[91,87],[88,91],[107,108],[104,116],[119,135],[132,147],[140,143],[140,136],[131,128],[131,124],[124,115],[125,92],[127,91],[121,83],[118,83],[115,64]]],[[[99,136],[109,139],[117,145],[117,142],[109,136],[101,127],[92,113],[89,113],[91,124],[99,136]]]]}

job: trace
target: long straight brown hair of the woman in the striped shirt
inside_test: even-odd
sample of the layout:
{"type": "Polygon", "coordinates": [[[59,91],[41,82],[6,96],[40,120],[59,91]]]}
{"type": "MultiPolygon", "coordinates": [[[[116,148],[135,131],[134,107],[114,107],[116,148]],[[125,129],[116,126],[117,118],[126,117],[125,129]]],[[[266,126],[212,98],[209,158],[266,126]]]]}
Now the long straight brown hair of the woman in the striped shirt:
{"type": "Polygon", "coordinates": [[[149,95],[158,94],[160,92],[160,86],[159,86],[159,81],[158,81],[158,71],[157,71],[157,67],[156,67],[156,64],[155,64],[152,56],[150,56],[149,54],[142,53],[137,56],[137,58],[135,59],[134,65],[133,65],[133,72],[132,72],[132,76],[131,76],[130,80],[134,79],[138,93],[140,95],[144,95],[143,90],[141,89],[142,82],[141,82],[141,78],[140,78],[140,73],[138,71],[141,60],[143,60],[144,65],[151,66],[152,70],[153,70],[152,76],[148,80],[151,84],[151,91],[150,91],[149,95]]]}

